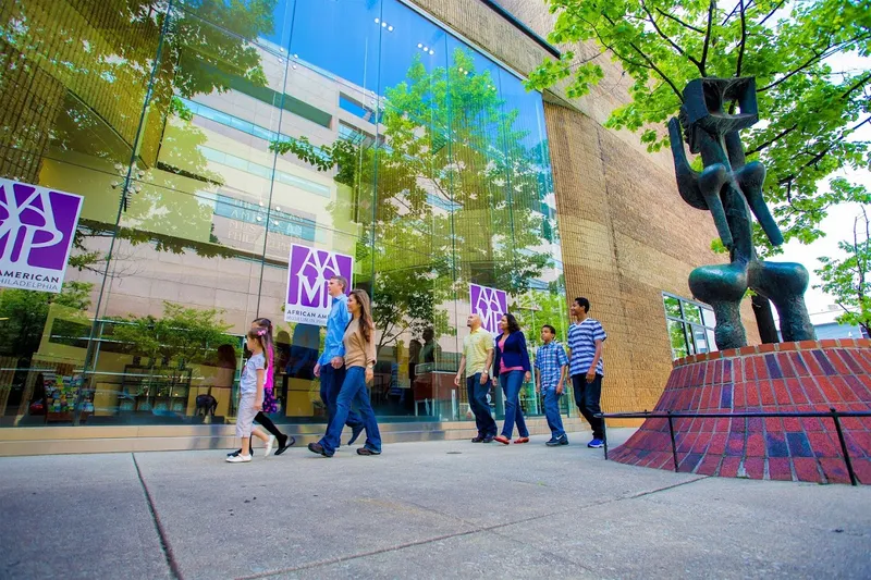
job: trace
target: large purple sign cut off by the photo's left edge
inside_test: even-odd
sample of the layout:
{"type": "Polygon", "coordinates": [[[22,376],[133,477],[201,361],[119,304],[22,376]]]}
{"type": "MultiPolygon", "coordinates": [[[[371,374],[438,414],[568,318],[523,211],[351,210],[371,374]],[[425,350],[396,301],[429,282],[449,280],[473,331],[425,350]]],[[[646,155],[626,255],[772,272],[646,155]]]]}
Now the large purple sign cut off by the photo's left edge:
{"type": "Polygon", "coordinates": [[[0,286],[61,291],[82,196],[0,178],[0,286]]]}

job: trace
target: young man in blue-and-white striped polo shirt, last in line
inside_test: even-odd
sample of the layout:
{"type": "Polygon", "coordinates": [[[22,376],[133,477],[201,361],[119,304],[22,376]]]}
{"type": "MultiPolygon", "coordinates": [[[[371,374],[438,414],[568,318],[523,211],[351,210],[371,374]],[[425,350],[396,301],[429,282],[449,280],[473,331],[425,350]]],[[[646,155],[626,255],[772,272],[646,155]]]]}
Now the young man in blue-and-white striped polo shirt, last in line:
{"type": "Polygon", "coordinates": [[[601,447],[604,439],[604,420],[594,417],[602,412],[599,399],[602,396],[602,343],[608,335],[602,324],[588,316],[590,301],[587,298],[575,298],[569,312],[575,323],[568,329],[569,370],[572,386],[575,391],[575,404],[592,428],[592,441],[588,447],[601,447]]]}

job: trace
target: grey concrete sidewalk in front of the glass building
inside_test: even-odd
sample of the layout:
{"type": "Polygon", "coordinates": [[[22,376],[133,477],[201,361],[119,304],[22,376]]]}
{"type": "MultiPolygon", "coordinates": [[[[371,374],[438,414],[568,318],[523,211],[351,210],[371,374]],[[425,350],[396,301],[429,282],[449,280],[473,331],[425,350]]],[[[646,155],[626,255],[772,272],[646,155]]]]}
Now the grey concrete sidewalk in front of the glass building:
{"type": "Polygon", "coordinates": [[[0,458],[0,578],[871,578],[869,488],[628,467],[569,436],[0,458]]]}

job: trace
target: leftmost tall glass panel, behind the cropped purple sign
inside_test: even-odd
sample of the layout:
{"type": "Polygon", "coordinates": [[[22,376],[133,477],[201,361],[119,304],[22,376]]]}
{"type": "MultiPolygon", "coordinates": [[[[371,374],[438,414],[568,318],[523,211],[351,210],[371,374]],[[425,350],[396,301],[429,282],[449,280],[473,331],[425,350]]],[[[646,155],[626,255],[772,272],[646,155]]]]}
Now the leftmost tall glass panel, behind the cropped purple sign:
{"type": "MultiPolygon", "coordinates": [[[[99,422],[99,385],[87,373],[86,353],[162,22],[160,11],[147,16],[126,2],[112,7],[96,0],[0,5],[1,195],[7,206],[27,199],[15,195],[13,182],[25,187],[19,193],[37,194],[33,202],[53,214],[52,237],[61,239],[53,248],[61,259],[52,257],[46,268],[57,277],[65,268],[58,293],[0,288],[7,370],[0,416],[11,419],[3,425],[99,422]],[[78,202],[64,193],[84,198],[77,227],[69,218],[78,202]]],[[[142,151],[150,152],[145,145],[142,151]]],[[[25,272],[36,251],[22,254],[25,272]]]]}

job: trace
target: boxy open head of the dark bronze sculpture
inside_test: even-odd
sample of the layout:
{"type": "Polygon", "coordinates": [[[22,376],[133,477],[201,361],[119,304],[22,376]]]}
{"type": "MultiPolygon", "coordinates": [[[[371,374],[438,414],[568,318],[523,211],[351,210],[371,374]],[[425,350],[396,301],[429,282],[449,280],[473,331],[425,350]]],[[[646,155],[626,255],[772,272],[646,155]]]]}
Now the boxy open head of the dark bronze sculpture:
{"type": "Polygon", "coordinates": [[[701,148],[699,131],[704,131],[715,139],[733,131],[740,131],[759,121],[756,101],[756,79],[739,78],[697,78],[684,89],[684,104],[680,107],[680,124],[684,127],[689,150],[698,153],[701,148]],[[732,102],[738,112],[729,114],[732,102]]]}

